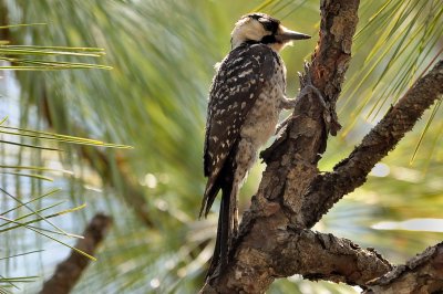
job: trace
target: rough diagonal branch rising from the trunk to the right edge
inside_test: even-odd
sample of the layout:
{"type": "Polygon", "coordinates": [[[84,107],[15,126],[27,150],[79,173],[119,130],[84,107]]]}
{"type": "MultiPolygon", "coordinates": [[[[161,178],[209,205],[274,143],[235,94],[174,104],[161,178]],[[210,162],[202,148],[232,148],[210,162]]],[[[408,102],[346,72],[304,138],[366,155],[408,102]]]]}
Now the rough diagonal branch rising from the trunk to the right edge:
{"type": "Polygon", "coordinates": [[[316,224],[344,195],[363,185],[368,174],[421,118],[424,111],[443,94],[443,61],[420,78],[385,114],[383,119],[363,138],[351,155],[339,162],[333,172],[319,175],[303,197],[309,208],[307,228],[316,224]],[[333,189],[331,189],[333,187],[333,189]]]}

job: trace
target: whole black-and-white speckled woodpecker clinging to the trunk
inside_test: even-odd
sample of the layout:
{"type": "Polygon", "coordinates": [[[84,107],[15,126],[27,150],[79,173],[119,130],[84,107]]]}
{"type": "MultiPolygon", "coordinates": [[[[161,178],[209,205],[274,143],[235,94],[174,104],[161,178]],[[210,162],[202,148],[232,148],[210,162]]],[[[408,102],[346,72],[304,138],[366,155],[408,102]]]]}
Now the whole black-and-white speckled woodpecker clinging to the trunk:
{"type": "Polygon", "coordinates": [[[279,113],[295,106],[295,99],[286,97],[286,67],[279,52],[302,39],[310,36],[258,12],[241,17],[231,32],[231,50],[217,69],[207,108],[204,175],[208,179],[199,217],[208,214],[222,190],[208,275],[228,262],[238,230],[238,191],[258,149],[275,134],[279,113]]]}

